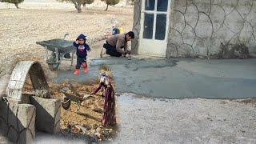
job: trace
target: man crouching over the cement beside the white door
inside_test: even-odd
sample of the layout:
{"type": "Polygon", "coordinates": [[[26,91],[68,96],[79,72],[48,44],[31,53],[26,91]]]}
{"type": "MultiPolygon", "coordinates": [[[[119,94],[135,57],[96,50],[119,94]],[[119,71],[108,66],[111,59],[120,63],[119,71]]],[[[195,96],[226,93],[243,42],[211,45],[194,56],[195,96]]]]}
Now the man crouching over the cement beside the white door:
{"type": "Polygon", "coordinates": [[[121,57],[122,55],[126,56],[126,54],[130,54],[130,51],[127,50],[127,42],[132,39],[134,39],[134,32],[132,31],[126,34],[115,34],[107,38],[106,43],[103,45],[101,58],[103,54],[108,54],[113,57],[121,57]],[[106,50],[104,50],[104,48],[106,50]]]}

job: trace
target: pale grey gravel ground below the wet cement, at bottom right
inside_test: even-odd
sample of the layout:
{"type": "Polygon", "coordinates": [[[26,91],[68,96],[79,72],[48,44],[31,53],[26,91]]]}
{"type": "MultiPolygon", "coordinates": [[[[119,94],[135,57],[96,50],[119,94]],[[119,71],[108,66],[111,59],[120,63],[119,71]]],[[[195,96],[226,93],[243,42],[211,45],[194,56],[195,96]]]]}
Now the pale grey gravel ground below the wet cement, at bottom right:
{"type": "Polygon", "coordinates": [[[256,103],[118,97],[114,143],[255,143],[256,103]]]}

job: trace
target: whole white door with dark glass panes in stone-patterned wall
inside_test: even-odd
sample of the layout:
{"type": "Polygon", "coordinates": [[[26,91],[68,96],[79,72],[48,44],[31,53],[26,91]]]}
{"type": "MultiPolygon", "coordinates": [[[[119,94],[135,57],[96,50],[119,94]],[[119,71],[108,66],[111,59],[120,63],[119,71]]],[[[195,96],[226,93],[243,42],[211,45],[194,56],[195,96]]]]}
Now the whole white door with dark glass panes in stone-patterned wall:
{"type": "Polygon", "coordinates": [[[170,0],[142,0],[138,54],[166,56],[170,0]]]}

